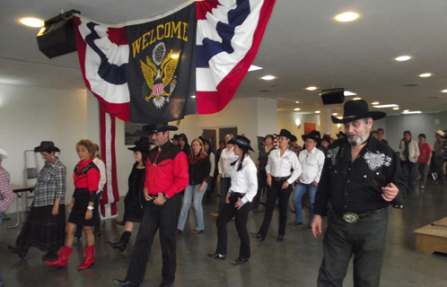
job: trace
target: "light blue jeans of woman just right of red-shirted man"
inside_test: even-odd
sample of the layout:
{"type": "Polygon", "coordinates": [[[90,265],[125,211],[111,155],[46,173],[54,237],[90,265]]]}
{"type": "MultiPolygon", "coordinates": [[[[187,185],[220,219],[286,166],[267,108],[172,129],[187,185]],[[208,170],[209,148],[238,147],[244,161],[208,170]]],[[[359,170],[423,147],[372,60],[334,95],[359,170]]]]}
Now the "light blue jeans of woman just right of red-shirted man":
{"type": "Polygon", "coordinates": [[[206,186],[202,192],[198,191],[201,184],[188,186],[185,188],[185,196],[183,196],[183,204],[181,205],[181,212],[177,228],[183,230],[185,222],[188,217],[189,206],[191,206],[192,197],[194,196],[194,211],[196,212],[196,230],[204,230],[204,212],[202,210],[202,198],[206,192],[206,186]]]}

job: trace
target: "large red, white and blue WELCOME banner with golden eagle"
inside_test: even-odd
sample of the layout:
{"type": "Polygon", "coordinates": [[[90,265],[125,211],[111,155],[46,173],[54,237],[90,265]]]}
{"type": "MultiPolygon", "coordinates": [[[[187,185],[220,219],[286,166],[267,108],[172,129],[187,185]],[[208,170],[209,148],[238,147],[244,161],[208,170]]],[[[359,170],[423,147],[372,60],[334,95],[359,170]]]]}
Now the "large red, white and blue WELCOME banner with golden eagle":
{"type": "Polygon", "coordinates": [[[190,1],[110,27],[74,17],[83,79],[106,112],[155,124],[222,110],[258,52],[275,0],[190,1]]]}

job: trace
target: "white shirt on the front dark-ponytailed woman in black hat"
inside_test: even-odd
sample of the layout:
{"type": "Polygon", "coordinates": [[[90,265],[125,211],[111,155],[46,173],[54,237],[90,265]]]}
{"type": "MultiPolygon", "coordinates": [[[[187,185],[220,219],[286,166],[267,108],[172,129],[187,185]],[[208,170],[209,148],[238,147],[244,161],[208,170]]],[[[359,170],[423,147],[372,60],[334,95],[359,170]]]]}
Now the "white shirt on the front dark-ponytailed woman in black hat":
{"type": "Polygon", "coordinates": [[[241,198],[242,204],[246,204],[253,200],[258,192],[258,176],[256,165],[251,161],[250,156],[246,156],[242,161],[242,169],[238,171],[239,161],[232,166],[232,186],[228,192],[237,192],[245,194],[241,198]]]}

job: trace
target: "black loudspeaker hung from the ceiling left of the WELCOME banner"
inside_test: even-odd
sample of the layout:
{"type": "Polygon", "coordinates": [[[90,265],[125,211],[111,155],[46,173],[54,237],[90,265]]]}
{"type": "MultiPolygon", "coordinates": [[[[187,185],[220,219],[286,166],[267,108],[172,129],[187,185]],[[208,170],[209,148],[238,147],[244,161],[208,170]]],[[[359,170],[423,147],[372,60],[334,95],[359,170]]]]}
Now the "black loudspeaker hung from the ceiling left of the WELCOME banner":
{"type": "Polygon", "coordinates": [[[74,36],[73,10],[45,22],[37,35],[40,52],[48,58],[74,52],[76,39],[74,36]]]}

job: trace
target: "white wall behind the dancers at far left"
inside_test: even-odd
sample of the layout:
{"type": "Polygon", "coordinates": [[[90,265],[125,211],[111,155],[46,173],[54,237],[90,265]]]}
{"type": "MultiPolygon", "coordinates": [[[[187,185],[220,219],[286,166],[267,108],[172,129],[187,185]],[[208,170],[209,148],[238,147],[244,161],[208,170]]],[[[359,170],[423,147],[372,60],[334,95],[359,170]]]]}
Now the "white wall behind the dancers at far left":
{"type": "MultiPolygon", "coordinates": [[[[79,158],[75,143],[88,136],[85,91],[51,90],[0,84],[0,148],[9,157],[2,166],[13,184],[25,184],[24,151],[53,141],[66,165],[66,201],[74,190],[72,171],[79,158]]],[[[33,159],[34,152],[30,152],[33,159]]],[[[39,169],[43,160],[37,154],[39,169]]],[[[33,161],[34,163],[34,161],[33,161]]],[[[32,182],[31,182],[32,184],[32,182]]],[[[15,212],[15,204],[7,213],[15,212]]]]}

